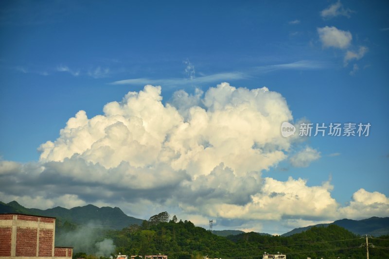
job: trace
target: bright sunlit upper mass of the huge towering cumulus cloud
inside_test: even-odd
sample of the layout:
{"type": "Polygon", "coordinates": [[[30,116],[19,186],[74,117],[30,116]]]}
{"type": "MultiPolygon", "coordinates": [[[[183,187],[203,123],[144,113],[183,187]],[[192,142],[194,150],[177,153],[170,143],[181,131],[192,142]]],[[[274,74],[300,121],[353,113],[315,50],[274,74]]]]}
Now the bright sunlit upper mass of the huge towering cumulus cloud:
{"type": "Polygon", "coordinates": [[[223,83],[202,100],[192,97],[200,106],[189,108],[186,103],[163,105],[160,92],[159,86],[129,92],[122,102],[106,104],[104,115],[90,119],[79,111],[58,139],[40,146],[40,160],[79,157],[107,169],[122,162],[135,167],[166,163],[197,175],[222,162],[236,173],[261,171],[285,157],[289,142],[278,129],[292,117],[280,94],[223,83]],[[274,148],[264,151],[269,143],[274,148]]]}

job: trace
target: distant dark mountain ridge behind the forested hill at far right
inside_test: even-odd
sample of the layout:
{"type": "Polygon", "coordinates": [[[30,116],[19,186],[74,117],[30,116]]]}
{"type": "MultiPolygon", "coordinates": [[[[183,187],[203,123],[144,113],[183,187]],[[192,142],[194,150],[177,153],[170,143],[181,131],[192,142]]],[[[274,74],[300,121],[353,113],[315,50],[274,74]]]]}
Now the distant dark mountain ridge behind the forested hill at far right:
{"type": "Polygon", "coordinates": [[[342,220],[337,220],[330,224],[317,224],[317,225],[311,225],[306,227],[299,227],[283,234],[282,236],[288,237],[306,231],[314,226],[320,227],[320,226],[328,226],[328,225],[338,225],[344,227],[345,229],[353,232],[356,235],[369,234],[377,237],[377,236],[389,234],[389,217],[386,218],[371,217],[369,219],[364,219],[364,220],[342,219],[342,220]]]}

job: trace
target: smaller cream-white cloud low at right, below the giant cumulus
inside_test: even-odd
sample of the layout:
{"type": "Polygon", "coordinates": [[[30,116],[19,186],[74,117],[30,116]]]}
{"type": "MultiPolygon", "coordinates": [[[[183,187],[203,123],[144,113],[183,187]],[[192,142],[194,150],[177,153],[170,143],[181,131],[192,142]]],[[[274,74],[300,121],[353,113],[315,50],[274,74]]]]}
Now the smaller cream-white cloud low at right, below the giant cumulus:
{"type": "Polygon", "coordinates": [[[209,210],[212,216],[222,218],[281,220],[292,217],[320,220],[336,214],[338,204],[331,197],[332,189],[329,183],[308,187],[303,179],[289,177],[283,182],[266,177],[261,191],[251,195],[250,203],[221,203],[209,210]]]}

